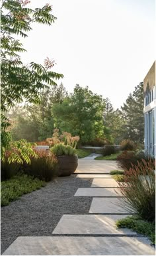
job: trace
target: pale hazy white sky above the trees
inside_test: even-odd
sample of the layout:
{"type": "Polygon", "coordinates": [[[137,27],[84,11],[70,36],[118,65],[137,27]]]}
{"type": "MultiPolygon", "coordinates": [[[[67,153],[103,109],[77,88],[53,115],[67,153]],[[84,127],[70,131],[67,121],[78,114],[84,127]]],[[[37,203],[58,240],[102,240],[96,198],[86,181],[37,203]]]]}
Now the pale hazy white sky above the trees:
{"type": "MultiPolygon", "coordinates": [[[[56,60],[65,88],[75,84],[120,107],[155,60],[154,0],[32,0],[53,5],[52,27],[33,25],[22,40],[24,63],[56,60]]],[[[58,82],[59,84],[59,82],[58,82]]]]}

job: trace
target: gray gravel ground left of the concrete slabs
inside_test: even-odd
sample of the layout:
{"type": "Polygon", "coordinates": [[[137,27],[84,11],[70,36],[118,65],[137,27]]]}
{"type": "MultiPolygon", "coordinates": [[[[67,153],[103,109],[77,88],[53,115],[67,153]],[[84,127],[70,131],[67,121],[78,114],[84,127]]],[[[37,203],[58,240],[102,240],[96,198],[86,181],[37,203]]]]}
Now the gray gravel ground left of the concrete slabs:
{"type": "Polygon", "coordinates": [[[90,187],[93,178],[56,178],[9,206],[1,208],[1,253],[18,236],[52,235],[63,214],[87,214],[92,198],[73,197],[77,188],[90,187]]]}

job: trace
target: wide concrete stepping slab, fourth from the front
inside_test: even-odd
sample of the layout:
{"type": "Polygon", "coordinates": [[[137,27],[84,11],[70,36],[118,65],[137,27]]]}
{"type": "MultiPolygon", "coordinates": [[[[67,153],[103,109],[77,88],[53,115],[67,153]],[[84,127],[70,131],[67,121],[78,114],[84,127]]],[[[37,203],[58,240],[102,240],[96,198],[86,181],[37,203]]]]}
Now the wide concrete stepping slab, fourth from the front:
{"type": "Polygon", "coordinates": [[[74,196],[122,196],[118,188],[78,188],[74,196]],[[118,194],[116,191],[118,191],[118,194]]]}

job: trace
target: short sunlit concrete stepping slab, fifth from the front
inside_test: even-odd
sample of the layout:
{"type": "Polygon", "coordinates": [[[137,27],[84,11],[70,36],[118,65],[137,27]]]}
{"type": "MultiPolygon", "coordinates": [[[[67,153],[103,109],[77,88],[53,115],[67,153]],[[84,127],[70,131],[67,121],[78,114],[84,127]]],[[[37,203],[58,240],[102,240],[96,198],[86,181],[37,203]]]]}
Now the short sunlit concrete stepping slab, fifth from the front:
{"type": "Polygon", "coordinates": [[[116,188],[118,187],[118,182],[114,178],[94,178],[91,187],[104,187],[104,188],[116,188]]]}

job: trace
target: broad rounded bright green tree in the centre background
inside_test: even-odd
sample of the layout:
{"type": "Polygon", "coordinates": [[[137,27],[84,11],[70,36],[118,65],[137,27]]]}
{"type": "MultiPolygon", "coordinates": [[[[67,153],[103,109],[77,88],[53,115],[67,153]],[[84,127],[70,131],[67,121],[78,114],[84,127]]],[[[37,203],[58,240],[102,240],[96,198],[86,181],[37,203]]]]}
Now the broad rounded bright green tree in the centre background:
{"type": "Polygon", "coordinates": [[[104,101],[93,94],[88,87],[75,86],[73,94],[61,104],[54,104],[52,113],[56,127],[73,135],[79,135],[81,142],[92,141],[103,136],[102,113],[104,101]]]}

